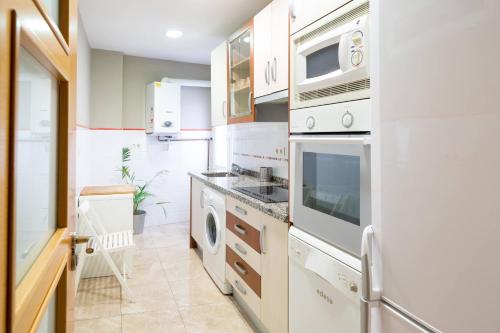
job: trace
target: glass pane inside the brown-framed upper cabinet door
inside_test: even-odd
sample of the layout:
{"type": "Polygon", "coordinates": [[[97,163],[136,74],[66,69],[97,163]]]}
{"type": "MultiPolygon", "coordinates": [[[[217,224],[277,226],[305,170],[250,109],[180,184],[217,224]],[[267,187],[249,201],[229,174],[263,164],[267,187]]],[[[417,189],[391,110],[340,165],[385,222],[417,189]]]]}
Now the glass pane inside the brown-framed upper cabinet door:
{"type": "Polygon", "coordinates": [[[251,32],[246,30],[230,42],[231,117],[251,113],[250,107],[251,32]]]}

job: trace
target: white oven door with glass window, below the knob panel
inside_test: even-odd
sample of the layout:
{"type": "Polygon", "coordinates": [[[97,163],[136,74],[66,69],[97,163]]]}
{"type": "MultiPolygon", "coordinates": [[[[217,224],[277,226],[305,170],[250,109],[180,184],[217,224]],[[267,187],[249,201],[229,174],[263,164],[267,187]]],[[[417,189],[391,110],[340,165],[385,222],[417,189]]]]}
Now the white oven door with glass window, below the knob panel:
{"type": "Polygon", "coordinates": [[[371,223],[369,136],[290,137],[294,226],[360,257],[371,223]]]}

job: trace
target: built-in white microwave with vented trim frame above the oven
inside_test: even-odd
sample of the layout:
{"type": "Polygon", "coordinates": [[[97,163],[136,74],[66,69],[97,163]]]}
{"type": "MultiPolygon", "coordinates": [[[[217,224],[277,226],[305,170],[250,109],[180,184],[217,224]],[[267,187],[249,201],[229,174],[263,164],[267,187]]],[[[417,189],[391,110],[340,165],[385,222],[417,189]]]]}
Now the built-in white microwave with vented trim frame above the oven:
{"type": "Polygon", "coordinates": [[[353,0],[291,36],[291,109],[370,97],[368,18],[353,0]]]}

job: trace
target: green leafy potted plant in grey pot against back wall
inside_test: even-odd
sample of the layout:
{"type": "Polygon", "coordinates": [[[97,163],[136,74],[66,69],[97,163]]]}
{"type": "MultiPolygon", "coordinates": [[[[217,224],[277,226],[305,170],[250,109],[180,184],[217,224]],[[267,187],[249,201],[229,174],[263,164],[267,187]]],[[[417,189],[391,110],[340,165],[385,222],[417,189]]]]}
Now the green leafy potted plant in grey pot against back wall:
{"type": "MultiPolygon", "coordinates": [[[[142,181],[143,184],[139,185],[137,182],[141,182],[140,180],[135,179],[135,172],[131,171],[130,166],[128,163],[130,162],[131,159],[131,150],[129,147],[123,147],[122,148],[122,167],[121,167],[121,175],[122,175],[122,180],[125,181],[127,184],[135,186],[135,193],[134,193],[134,235],[139,235],[142,234],[144,231],[144,223],[146,221],[146,211],[142,208],[145,208],[147,206],[144,205],[144,200],[146,200],[148,197],[153,197],[154,195],[148,191],[148,187],[158,178],[164,177],[168,171],[167,170],[161,170],[157,172],[153,178],[151,178],[149,181],[142,181]]],[[[163,210],[163,213],[166,215],[165,207],[163,206],[166,204],[167,201],[158,201],[149,204],[148,206],[151,205],[158,205],[161,207],[163,210]]]]}

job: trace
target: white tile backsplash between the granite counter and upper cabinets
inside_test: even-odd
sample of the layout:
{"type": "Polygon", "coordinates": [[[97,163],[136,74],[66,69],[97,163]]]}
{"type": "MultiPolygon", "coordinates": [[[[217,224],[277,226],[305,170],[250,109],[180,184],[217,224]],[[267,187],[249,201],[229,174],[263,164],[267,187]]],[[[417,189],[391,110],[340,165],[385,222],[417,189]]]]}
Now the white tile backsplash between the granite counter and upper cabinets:
{"type": "Polygon", "coordinates": [[[229,138],[230,164],[257,172],[272,167],[273,175],[288,179],[288,123],[230,125],[229,138]]]}

